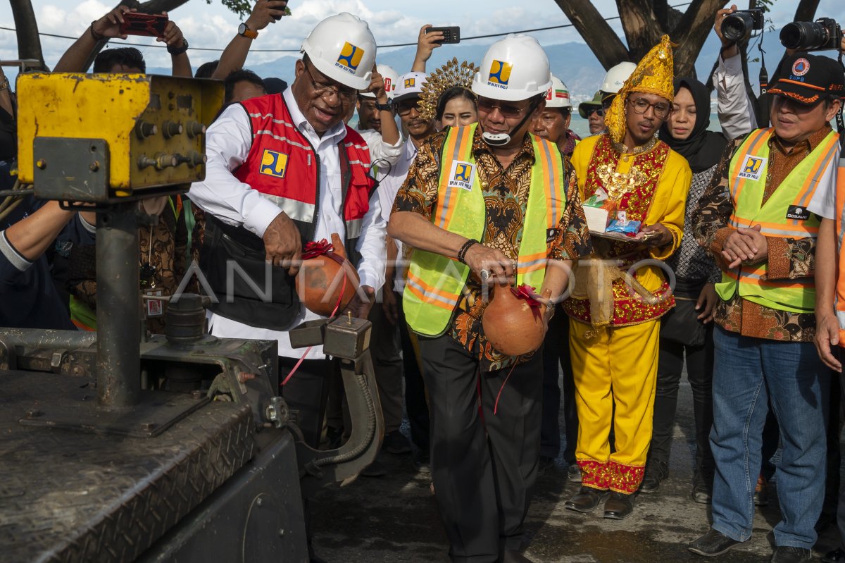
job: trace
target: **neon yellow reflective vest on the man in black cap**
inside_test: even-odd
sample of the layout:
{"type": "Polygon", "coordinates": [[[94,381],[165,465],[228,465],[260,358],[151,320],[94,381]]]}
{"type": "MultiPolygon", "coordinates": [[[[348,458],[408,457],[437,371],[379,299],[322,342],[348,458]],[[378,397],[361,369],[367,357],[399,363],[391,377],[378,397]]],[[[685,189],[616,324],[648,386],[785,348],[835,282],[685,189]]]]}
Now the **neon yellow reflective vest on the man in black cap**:
{"type": "MultiPolygon", "coordinates": [[[[815,238],[819,234],[820,221],[806,210],[806,206],[810,205],[818,185],[833,178],[831,172],[836,164],[839,135],[828,134],[788,173],[766,203],[760,205],[766,191],[769,139],[773,132],[773,128],[753,131],[731,159],[733,215],[729,224],[733,228],[759,225],[760,232],[771,238],[815,238]],[[808,218],[799,218],[804,215],[808,218]]],[[[717,283],[716,292],[725,301],[739,292],[740,297],[753,303],[793,313],[811,313],[815,308],[812,277],[766,279],[765,261],[722,272],[722,282],[717,283]]]]}

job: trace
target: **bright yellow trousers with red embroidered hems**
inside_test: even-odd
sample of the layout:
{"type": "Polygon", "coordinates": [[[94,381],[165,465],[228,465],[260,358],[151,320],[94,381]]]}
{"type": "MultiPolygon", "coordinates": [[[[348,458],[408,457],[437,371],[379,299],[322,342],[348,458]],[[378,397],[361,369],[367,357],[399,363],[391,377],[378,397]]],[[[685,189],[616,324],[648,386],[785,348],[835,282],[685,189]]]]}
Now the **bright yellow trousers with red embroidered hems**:
{"type": "Polygon", "coordinates": [[[651,443],[659,336],[659,320],[593,329],[570,319],[578,411],[575,457],[586,487],[626,494],[640,487],[651,443]],[[586,338],[587,331],[598,334],[586,338]]]}

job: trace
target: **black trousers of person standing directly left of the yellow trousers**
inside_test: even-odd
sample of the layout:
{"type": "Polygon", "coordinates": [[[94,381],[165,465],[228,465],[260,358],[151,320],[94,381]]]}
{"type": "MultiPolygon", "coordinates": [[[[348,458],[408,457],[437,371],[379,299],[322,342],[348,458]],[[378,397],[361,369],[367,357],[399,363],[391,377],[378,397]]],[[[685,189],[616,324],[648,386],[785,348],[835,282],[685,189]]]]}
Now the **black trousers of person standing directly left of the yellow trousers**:
{"type": "Polygon", "coordinates": [[[575,411],[575,380],[570,361],[570,322],[558,305],[548,323],[542,344],[542,428],[540,455],[555,459],[560,453],[560,369],[564,382],[564,432],[566,444],[564,460],[575,463],[575,444],[578,441],[578,413],[575,411]]]}

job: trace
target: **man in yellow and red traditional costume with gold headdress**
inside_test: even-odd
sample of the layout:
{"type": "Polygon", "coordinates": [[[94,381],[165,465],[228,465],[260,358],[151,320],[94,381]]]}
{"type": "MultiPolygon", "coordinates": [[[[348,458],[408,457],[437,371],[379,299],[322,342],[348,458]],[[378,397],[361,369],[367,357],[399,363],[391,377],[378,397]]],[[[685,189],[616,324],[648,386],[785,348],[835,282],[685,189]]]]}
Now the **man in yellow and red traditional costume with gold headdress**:
{"type": "Polygon", "coordinates": [[[674,306],[661,262],[679,247],[692,173],[657,139],[673,94],[672,46],[663,36],[613,99],[608,132],[582,140],[572,155],[594,254],[578,261],[563,303],[582,474],[565,506],[594,511],[609,491],[606,518],[634,510],[651,441],[659,320],[674,306]]]}

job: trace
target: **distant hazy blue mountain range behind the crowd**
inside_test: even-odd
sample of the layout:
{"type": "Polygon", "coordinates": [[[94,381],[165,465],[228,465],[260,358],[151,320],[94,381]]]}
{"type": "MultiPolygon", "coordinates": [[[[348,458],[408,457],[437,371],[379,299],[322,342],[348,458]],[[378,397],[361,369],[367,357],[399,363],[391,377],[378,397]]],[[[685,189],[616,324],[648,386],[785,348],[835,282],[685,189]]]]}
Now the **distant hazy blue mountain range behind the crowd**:
{"type": "MultiPolygon", "coordinates": [[[[783,47],[780,41],[778,41],[777,33],[766,33],[764,39],[763,47],[766,50],[766,68],[771,76],[774,74],[777,62],[782,56],[783,47]]],[[[458,45],[441,47],[434,51],[431,59],[428,61],[428,69],[437,68],[452,57],[457,57],[459,61],[467,60],[480,63],[487,48],[487,43],[479,41],[468,41],[458,45]]],[[[591,99],[595,91],[598,90],[605,71],[595,55],[592,54],[590,47],[584,43],[571,42],[559,45],[546,45],[544,48],[552,65],[552,73],[562,79],[569,87],[572,100],[579,102],[591,99]]],[[[415,51],[415,47],[410,46],[384,49],[379,54],[379,63],[388,64],[396,72],[401,74],[411,68],[415,51]]],[[[710,74],[713,63],[717,60],[718,52],[719,43],[716,36],[711,34],[701,49],[695,65],[698,78],[702,81],[706,81],[706,77],[710,74]]],[[[749,59],[753,61],[758,57],[760,57],[760,52],[756,47],[752,48],[749,59]]],[[[248,68],[254,70],[259,76],[275,76],[290,81],[296,61],[297,57],[285,56],[270,63],[248,65],[248,68]]],[[[170,69],[150,68],[149,72],[169,74],[170,69]]],[[[750,63],[751,83],[755,85],[755,89],[759,72],[760,63],[750,63]]]]}

